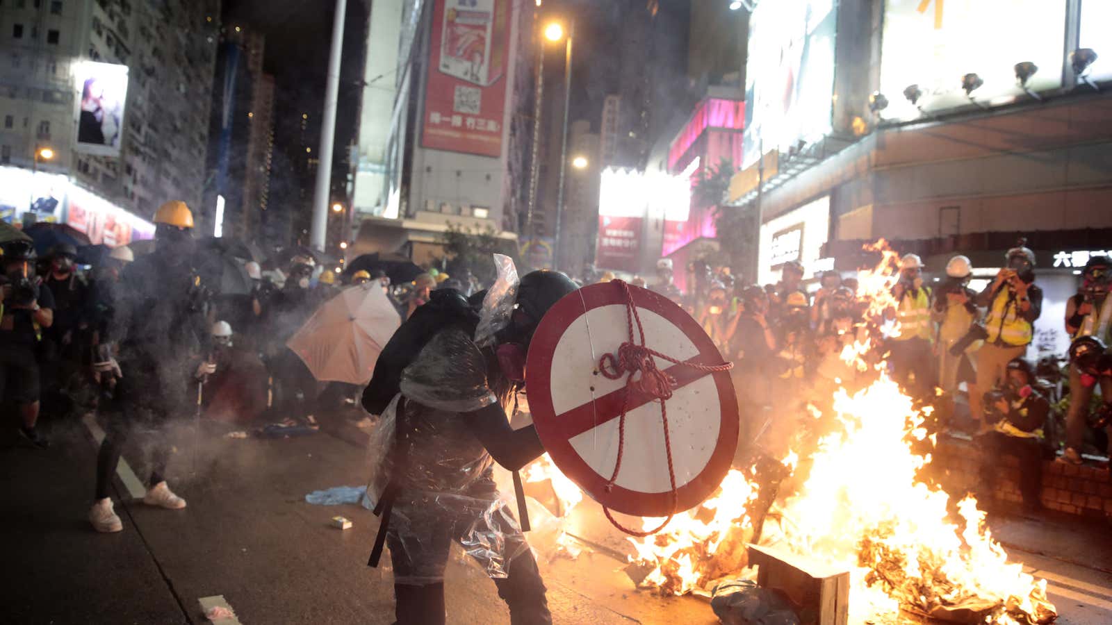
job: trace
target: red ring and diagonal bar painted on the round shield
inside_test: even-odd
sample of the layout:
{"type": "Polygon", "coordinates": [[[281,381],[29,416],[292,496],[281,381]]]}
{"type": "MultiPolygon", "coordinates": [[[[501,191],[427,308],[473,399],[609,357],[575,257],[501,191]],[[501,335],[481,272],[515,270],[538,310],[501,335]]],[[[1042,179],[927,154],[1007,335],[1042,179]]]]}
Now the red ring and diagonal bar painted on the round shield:
{"type": "MultiPolygon", "coordinates": [[[[687,363],[722,364],[722,356],[714,341],[684,309],[666,297],[646,289],[629,287],[629,294],[637,308],[659,315],[676,326],[691,340],[698,350],[698,355],[689,358],[687,363]]],[[[678,386],[712,376],[718,396],[722,419],[718,427],[718,438],[709,459],[695,477],[676,489],[676,500],[673,499],[671,489],[663,493],[645,493],[624,488],[618,484],[607,489],[606,485],[609,483],[610,476],[599,475],[572,446],[570,439],[573,437],[618,418],[625,404],[625,393],[628,393],[625,387],[596,398],[590,398],[586,394],[587,389],[584,389],[585,395],[587,395],[585,404],[564,415],[556,414],[550,386],[556,346],[576,319],[595,308],[613,305],[626,306],[625,294],[616,282],[592,285],[565,296],[542,319],[529,344],[525,369],[526,393],[537,435],[556,466],[593,499],[613,510],[636,516],[663,517],[674,512],[693,508],[706,500],[718,488],[729,470],[734,452],[737,449],[739,427],[737,397],[734,394],[734,385],[728,371],[707,373],[682,365],[667,367],[669,374],[677,379],[678,386]],[[583,418],[587,411],[586,408],[589,408],[592,415],[589,427],[585,427],[587,424],[584,423],[583,418]],[[565,418],[572,413],[576,413],[577,418],[565,418]],[[673,509],[674,504],[675,509],[673,509]]],[[[623,340],[627,338],[623,337],[623,340]]],[[[646,333],[645,340],[647,346],[652,348],[652,335],[646,333]]],[[[597,354],[597,356],[600,357],[602,354],[597,354]]],[[[595,366],[597,367],[597,363],[595,366]]],[[[634,398],[631,397],[631,399],[634,398]]],[[[642,397],[638,400],[644,404],[647,398],[642,397]]],[[[668,406],[671,407],[673,404],[669,403],[668,406]]],[[[657,420],[656,424],[663,428],[661,420],[657,420]]],[[[628,450],[628,444],[626,449],[628,450]]],[[[675,453],[676,450],[673,449],[674,455],[675,453]]],[[[659,462],[665,464],[667,458],[662,457],[659,462]]],[[[623,468],[622,470],[627,469],[623,468]]]]}

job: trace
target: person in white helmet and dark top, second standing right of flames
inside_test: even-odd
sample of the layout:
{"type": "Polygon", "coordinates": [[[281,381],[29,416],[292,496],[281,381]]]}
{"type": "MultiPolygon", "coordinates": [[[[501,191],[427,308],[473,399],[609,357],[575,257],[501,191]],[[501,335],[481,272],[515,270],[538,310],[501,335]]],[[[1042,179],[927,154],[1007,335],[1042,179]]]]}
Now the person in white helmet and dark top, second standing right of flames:
{"type": "MultiPolygon", "coordinates": [[[[934,294],[934,311],[931,316],[939,324],[939,385],[951,396],[957,390],[957,370],[981,347],[981,341],[974,341],[957,355],[950,353],[954,344],[964,338],[970,327],[980,319],[976,294],[967,286],[972,275],[970,259],[955,256],[946,262],[946,281],[934,294]]],[[[966,367],[972,368],[972,365],[966,364],[966,367]]]]}

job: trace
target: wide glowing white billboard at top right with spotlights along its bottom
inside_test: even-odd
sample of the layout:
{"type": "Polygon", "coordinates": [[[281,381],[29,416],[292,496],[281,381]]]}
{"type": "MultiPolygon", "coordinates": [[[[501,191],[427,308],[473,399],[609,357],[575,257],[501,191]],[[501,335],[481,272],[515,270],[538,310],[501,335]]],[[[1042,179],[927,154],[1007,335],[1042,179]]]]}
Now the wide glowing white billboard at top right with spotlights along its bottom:
{"type": "MultiPolygon", "coordinates": [[[[903,96],[912,85],[922,90],[917,103],[925,111],[967,106],[962,89],[967,73],[984,81],[972,92],[976,100],[1006,103],[1023,92],[1014,69],[1022,61],[1039,67],[1029,88],[1060,87],[1065,6],[1065,0],[885,0],[880,90],[890,103],[884,117],[921,115],[903,96]]],[[[1103,30],[1106,22],[1099,23],[1094,28],[1103,30]]]]}

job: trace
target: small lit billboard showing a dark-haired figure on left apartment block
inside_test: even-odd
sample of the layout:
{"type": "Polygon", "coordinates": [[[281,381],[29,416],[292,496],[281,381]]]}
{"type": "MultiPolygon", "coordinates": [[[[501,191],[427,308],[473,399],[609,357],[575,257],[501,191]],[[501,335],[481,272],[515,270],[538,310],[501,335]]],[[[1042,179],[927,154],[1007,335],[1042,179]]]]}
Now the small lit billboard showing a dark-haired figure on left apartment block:
{"type": "Polygon", "coordinates": [[[77,98],[73,150],[119,156],[123,109],[128,96],[128,66],[83,61],[73,68],[77,98]]]}

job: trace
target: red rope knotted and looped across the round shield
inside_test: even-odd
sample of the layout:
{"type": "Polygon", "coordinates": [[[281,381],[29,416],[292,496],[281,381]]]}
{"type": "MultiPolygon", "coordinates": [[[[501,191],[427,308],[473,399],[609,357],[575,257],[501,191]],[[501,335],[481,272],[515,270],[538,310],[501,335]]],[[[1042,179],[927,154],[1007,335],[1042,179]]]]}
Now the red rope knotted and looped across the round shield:
{"type": "Polygon", "coordinates": [[[626,374],[626,385],[625,385],[625,399],[622,403],[622,414],[618,416],[618,456],[614,463],[614,475],[610,476],[609,482],[606,483],[606,490],[613,490],[614,485],[618,479],[618,473],[622,470],[622,457],[625,453],[625,417],[626,409],[629,407],[629,396],[633,390],[637,390],[654,399],[661,400],[661,421],[664,424],[664,452],[668,458],[668,482],[672,485],[672,512],[668,513],[668,517],[664,519],[656,529],[651,529],[648,532],[637,532],[635,529],[629,529],[619,524],[610,515],[609,508],[603,506],[603,513],[606,514],[606,518],[610,522],[614,527],[617,527],[622,532],[629,534],[631,536],[637,536],[644,538],[652,534],[664,529],[668,523],[672,522],[672,517],[676,514],[676,508],[679,507],[679,493],[676,488],[676,470],[672,462],[672,436],[668,433],[668,405],[667,400],[672,398],[672,388],[676,385],[676,379],[668,374],[662,371],[656,367],[656,361],[654,357],[661,358],[662,360],[667,360],[674,365],[681,365],[684,367],[689,367],[699,371],[717,373],[727,371],[733,368],[733,363],[723,363],[722,365],[702,365],[698,363],[685,363],[677,358],[673,358],[665,354],[661,354],[655,349],[649,349],[645,345],[645,328],[641,325],[641,315],[637,312],[637,306],[633,301],[633,294],[629,291],[629,285],[623,280],[613,280],[613,284],[618,285],[622,288],[622,294],[625,296],[626,305],[626,324],[629,330],[629,340],[623,343],[618,346],[616,353],[604,354],[598,360],[598,370],[609,379],[618,379],[623,374],[626,374]],[[634,326],[637,327],[637,336],[634,336],[634,326]],[[636,343],[636,339],[641,339],[641,344],[636,343]],[[641,376],[636,376],[641,374],[641,376]]]}

